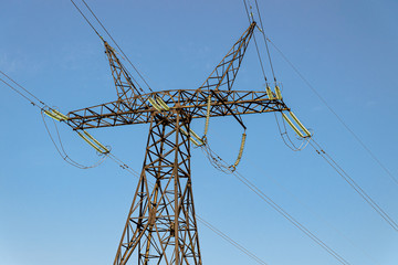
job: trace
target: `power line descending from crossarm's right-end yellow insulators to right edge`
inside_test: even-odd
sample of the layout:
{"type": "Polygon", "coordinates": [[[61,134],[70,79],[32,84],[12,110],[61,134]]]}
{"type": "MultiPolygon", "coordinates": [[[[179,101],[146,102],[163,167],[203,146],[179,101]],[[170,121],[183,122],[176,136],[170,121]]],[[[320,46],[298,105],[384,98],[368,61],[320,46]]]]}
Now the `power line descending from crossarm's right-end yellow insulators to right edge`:
{"type": "Polygon", "coordinates": [[[310,145],[395,231],[398,232],[398,224],[389,216],[389,214],[387,214],[314,139],[310,145]]]}

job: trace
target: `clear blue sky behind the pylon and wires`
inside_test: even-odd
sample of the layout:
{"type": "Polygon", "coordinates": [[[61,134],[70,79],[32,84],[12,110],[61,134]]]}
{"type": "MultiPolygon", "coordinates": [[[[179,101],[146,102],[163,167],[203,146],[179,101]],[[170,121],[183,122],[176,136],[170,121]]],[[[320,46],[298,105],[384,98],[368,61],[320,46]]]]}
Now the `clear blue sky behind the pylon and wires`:
{"type": "MultiPolygon", "coordinates": [[[[155,91],[197,88],[249,25],[235,0],[87,2],[155,91]]],[[[398,178],[398,2],[259,4],[268,36],[398,178]]],[[[0,20],[0,70],[42,100],[67,113],[116,99],[102,43],[70,1],[2,1],[0,20]]],[[[398,186],[274,49],[271,54],[286,104],[398,220],[398,186]]],[[[234,88],[264,88],[254,45],[234,88]]],[[[112,263],[137,180],[111,160],[90,170],[69,166],[38,109],[3,85],[0,95],[0,264],[112,263]]],[[[284,146],[273,115],[243,118],[243,176],[350,264],[397,264],[398,233],[314,150],[284,146]]],[[[192,126],[202,131],[203,123],[192,126]]],[[[96,161],[85,142],[60,128],[71,156],[96,161]]],[[[147,130],[139,125],[93,135],[140,171],[147,130]]],[[[230,162],[240,136],[232,118],[210,120],[212,147],[230,162]]],[[[200,150],[192,151],[192,181],[197,212],[268,264],[338,264],[200,150]]],[[[255,264],[201,224],[199,232],[205,264],[255,264]]]]}

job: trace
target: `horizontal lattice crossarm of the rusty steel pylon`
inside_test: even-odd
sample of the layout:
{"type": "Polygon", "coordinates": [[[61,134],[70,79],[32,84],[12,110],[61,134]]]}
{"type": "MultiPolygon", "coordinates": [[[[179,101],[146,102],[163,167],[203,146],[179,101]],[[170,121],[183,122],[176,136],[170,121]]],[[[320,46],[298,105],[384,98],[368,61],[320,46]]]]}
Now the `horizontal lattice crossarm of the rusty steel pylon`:
{"type": "Polygon", "coordinates": [[[175,109],[184,109],[191,118],[206,118],[209,96],[210,117],[289,110],[283,100],[269,99],[266,92],[179,89],[149,93],[128,102],[116,100],[70,112],[65,121],[74,129],[147,124],[150,123],[153,112],[160,114],[175,109]],[[161,99],[167,104],[168,110],[159,110],[147,104],[149,98],[158,102],[161,99]]]}

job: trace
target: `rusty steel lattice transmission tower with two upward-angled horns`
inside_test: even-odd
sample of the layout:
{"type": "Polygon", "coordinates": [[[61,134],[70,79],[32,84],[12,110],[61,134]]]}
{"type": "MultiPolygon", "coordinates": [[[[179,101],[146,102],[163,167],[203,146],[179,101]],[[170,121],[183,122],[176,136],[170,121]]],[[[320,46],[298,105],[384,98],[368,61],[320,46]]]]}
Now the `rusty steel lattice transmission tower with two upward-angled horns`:
{"type": "Polygon", "coordinates": [[[191,120],[233,116],[241,123],[244,114],[290,110],[279,91],[232,91],[255,26],[255,22],[250,24],[197,89],[140,93],[115,50],[104,41],[118,98],[70,112],[65,123],[75,130],[150,126],[115,265],[132,263],[133,256],[138,264],[202,264],[191,184],[191,120]]]}

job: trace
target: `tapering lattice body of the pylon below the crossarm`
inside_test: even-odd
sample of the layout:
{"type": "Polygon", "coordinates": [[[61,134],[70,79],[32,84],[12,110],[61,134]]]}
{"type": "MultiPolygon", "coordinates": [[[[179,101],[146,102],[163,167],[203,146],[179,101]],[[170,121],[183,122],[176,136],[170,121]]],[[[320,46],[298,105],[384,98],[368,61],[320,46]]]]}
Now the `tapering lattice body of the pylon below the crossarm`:
{"type": "Polygon", "coordinates": [[[114,265],[201,265],[190,174],[190,118],[154,114],[144,167],[114,265]],[[154,184],[151,184],[154,182],[154,184]],[[132,257],[132,258],[130,258],[132,257]]]}

